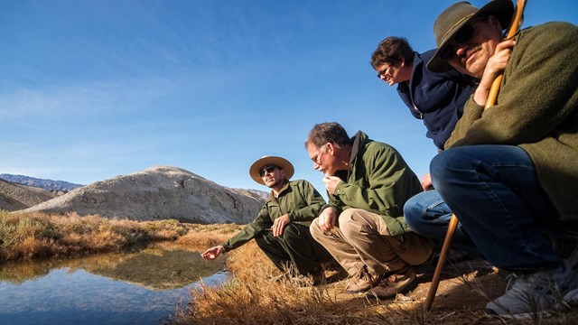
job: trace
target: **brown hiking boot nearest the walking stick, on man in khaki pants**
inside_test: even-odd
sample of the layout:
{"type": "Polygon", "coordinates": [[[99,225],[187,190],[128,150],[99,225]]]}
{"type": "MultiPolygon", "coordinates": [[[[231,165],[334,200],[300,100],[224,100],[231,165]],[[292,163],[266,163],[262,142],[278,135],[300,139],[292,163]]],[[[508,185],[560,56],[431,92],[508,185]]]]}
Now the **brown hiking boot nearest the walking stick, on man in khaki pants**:
{"type": "Polygon", "coordinates": [[[366,297],[389,299],[395,298],[397,293],[406,293],[417,284],[415,271],[411,267],[382,277],[381,281],[371,289],[366,297]]]}

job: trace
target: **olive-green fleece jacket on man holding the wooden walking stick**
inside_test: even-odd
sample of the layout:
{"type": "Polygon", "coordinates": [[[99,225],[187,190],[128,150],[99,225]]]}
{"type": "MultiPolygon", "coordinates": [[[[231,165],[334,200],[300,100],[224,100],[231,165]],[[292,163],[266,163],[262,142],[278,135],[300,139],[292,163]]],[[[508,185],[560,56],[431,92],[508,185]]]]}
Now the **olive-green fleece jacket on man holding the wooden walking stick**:
{"type": "Polygon", "coordinates": [[[544,23],[520,32],[496,105],[471,98],[445,147],[524,149],[561,220],[578,220],[578,27],[544,23]]]}

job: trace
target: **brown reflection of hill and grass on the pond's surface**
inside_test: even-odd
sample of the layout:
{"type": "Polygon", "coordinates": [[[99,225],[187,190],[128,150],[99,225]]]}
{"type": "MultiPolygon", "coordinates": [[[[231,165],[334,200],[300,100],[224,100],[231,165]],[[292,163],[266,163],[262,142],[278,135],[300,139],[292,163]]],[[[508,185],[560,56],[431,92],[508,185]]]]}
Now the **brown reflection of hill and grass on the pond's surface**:
{"type": "Polygon", "coordinates": [[[83,269],[114,280],[142,285],[152,290],[181,288],[200,277],[219,272],[224,259],[208,262],[199,253],[184,249],[147,248],[138,253],[94,255],[69,260],[0,264],[0,280],[23,283],[42,277],[52,269],[83,269]]]}

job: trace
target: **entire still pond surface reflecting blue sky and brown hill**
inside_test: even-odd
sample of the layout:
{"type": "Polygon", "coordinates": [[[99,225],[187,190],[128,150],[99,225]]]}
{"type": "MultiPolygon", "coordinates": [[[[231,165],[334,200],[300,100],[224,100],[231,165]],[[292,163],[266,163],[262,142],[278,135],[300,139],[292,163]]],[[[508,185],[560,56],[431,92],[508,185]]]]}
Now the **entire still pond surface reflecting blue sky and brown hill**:
{"type": "Polygon", "coordinates": [[[200,277],[216,284],[224,259],[167,247],[0,265],[0,324],[159,324],[200,277]],[[214,274],[210,276],[211,274],[214,274]]]}

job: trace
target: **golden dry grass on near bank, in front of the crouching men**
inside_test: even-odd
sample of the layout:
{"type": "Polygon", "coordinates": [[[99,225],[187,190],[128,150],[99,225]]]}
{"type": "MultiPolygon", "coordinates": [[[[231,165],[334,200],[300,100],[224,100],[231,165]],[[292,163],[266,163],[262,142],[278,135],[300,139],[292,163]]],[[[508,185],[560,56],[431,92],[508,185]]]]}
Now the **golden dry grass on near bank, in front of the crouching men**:
{"type": "MultiPolygon", "coordinates": [[[[280,273],[254,241],[228,253],[227,266],[234,274],[228,283],[191,291],[191,303],[186,311],[178,311],[175,324],[389,323],[378,312],[378,304],[350,303],[329,286],[271,281],[280,273]]],[[[337,272],[327,270],[326,274],[337,272]]]]}

